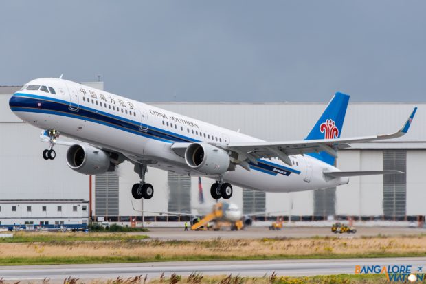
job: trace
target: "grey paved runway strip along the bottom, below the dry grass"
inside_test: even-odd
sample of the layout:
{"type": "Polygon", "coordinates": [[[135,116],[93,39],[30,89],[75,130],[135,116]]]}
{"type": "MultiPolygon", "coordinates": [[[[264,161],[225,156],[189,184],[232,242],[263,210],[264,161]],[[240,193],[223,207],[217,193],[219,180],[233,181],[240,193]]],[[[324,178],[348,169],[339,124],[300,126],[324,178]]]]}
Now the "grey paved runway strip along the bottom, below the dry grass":
{"type": "Polygon", "coordinates": [[[149,278],[176,273],[188,276],[192,272],[203,275],[232,274],[264,276],[276,272],[278,276],[310,276],[329,274],[354,274],[355,265],[426,265],[426,257],[385,259],[304,259],[272,261],[177,261],[157,263],[112,263],[85,265],[34,265],[0,267],[0,278],[5,281],[35,281],[50,278],[63,281],[72,276],[80,280],[117,278],[147,275],[149,278]]]}

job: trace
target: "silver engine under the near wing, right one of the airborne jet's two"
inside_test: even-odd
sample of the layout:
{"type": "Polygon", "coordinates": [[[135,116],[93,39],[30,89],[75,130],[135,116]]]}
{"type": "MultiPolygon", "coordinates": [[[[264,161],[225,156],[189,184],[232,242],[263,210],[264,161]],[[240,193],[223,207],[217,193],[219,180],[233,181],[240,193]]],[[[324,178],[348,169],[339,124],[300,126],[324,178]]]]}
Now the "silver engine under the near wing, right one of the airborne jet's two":
{"type": "Polygon", "coordinates": [[[229,155],[207,143],[192,143],[185,151],[188,166],[207,175],[220,175],[229,168],[229,155]]]}

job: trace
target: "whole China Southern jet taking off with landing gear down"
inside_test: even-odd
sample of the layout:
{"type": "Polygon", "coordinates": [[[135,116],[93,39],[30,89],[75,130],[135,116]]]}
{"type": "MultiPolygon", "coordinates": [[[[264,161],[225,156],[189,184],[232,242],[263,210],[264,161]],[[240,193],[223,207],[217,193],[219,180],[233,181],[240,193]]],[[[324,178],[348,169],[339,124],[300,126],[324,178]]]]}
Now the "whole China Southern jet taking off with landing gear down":
{"type": "Polygon", "coordinates": [[[55,144],[69,145],[68,166],[85,175],[114,171],[128,160],[139,174],[131,188],[135,199],[150,199],[154,187],[145,180],[148,167],[214,179],[210,194],[229,199],[240,186],[289,193],[348,184],[357,175],[400,171],[340,171],[335,159],[350,143],[398,138],[410,128],[415,107],[395,133],[340,138],[349,96],[337,92],[304,140],[267,142],[64,80],[38,78],[23,85],[9,100],[23,121],[43,129],[49,142],[45,160],[56,157],[55,144]],[[64,135],[78,143],[59,141],[64,135]]]}

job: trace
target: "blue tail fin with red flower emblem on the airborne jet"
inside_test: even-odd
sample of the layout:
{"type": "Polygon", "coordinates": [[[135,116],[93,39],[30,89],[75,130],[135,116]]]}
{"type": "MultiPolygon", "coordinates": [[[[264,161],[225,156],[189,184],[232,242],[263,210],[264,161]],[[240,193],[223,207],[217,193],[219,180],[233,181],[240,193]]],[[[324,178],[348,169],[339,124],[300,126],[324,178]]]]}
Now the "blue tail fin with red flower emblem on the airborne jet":
{"type": "MultiPolygon", "coordinates": [[[[308,136],[306,136],[305,140],[339,138],[348,102],[348,95],[337,92],[330,102],[328,102],[326,110],[322,113],[322,116],[311,132],[309,132],[308,136]]],[[[335,163],[335,158],[324,151],[320,153],[311,153],[309,155],[327,164],[333,165],[335,163]]]]}

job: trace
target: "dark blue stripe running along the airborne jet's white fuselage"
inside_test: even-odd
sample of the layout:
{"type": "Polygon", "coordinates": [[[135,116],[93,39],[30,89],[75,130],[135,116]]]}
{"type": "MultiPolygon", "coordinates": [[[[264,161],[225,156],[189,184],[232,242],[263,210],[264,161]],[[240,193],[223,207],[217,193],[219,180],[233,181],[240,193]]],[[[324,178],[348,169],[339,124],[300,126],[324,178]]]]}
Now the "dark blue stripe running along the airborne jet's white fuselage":
{"type": "MultiPolygon", "coordinates": [[[[106,113],[98,109],[92,109],[90,107],[85,107],[83,105],[71,104],[72,107],[77,108],[76,110],[69,109],[69,102],[66,100],[59,100],[56,98],[38,96],[33,94],[23,94],[16,93],[9,101],[10,109],[12,111],[23,111],[23,112],[34,112],[34,113],[48,113],[58,116],[66,116],[69,118],[77,118],[80,120],[87,120],[90,122],[99,123],[108,127],[113,127],[115,129],[120,129],[129,133],[136,135],[141,135],[146,138],[152,138],[162,142],[173,143],[173,142],[202,142],[195,140],[184,135],[179,135],[171,131],[164,129],[159,129],[151,125],[144,125],[148,128],[148,131],[141,131],[139,127],[141,126],[140,122],[135,120],[129,120],[128,118],[122,118],[121,116],[115,116],[111,113],[106,113]],[[41,106],[38,107],[38,102],[41,102],[41,106]]],[[[262,173],[267,173],[269,175],[277,175],[278,173],[282,175],[289,176],[291,173],[297,175],[300,174],[300,171],[297,171],[293,168],[288,168],[280,164],[275,164],[273,162],[268,162],[265,160],[258,160],[258,164],[249,163],[250,168],[253,168],[256,171],[261,171],[262,173]],[[278,171],[277,171],[278,169],[278,171]]]]}

